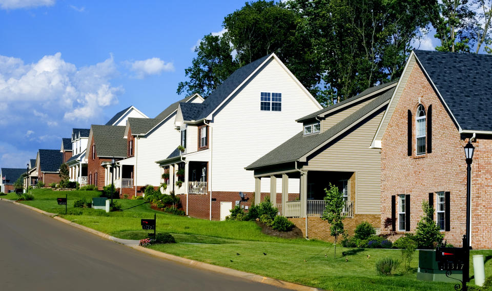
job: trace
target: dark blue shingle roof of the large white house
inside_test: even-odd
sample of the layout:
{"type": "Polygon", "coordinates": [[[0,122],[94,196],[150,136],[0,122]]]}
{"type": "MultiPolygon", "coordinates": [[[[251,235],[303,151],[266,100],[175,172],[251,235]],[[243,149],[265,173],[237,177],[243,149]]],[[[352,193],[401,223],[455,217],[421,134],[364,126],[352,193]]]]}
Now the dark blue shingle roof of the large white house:
{"type": "Polygon", "coordinates": [[[251,73],[253,73],[263,61],[271,55],[259,58],[248,65],[242,66],[232,73],[222,84],[217,87],[203,103],[179,103],[185,120],[200,120],[214,111],[251,73]],[[199,104],[199,105],[198,105],[199,104]]]}

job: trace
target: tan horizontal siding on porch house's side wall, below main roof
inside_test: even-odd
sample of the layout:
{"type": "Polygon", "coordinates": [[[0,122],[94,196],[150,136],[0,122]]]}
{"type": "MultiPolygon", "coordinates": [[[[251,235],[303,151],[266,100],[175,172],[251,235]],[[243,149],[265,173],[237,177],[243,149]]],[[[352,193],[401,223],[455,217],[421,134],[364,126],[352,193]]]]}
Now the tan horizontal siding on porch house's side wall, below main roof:
{"type": "Polygon", "coordinates": [[[355,172],[357,214],[380,213],[381,154],[379,149],[369,146],[383,117],[384,111],[381,111],[308,159],[308,165],[303,167],[307,171],[355,172]]]}

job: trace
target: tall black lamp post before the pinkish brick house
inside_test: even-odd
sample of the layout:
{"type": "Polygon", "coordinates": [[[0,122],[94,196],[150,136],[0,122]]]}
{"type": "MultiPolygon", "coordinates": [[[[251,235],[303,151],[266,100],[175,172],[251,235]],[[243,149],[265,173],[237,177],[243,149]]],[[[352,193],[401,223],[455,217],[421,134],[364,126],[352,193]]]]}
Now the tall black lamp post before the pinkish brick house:
{"type": "Polygon", "coordinates": [[[475,147],[470,141],[464,147],[466,157],[466,234],[463,236],[465,265],[463,266],[463,291],[468,290],[466,283],[470,276],[470,206],[471,206],[471,162],[475,147]]]}

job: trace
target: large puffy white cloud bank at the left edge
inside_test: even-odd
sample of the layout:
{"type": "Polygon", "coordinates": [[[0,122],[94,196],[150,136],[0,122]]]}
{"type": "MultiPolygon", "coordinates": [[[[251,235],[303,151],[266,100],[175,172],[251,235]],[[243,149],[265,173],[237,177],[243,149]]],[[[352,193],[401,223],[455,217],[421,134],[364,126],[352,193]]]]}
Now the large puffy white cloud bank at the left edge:
{"type": "Polygon", "coordinates": [[[118,102],[122,89],[110,84],[116,75],[112,56],[81,68],[66,62],[60,53],[27,65],[22,59],[0,56],[0,110],[7,122],[9,115],[13,121],[26,110],[49,126],[56,126],[56,120],[64,117],[88,120],[118,102]]]}

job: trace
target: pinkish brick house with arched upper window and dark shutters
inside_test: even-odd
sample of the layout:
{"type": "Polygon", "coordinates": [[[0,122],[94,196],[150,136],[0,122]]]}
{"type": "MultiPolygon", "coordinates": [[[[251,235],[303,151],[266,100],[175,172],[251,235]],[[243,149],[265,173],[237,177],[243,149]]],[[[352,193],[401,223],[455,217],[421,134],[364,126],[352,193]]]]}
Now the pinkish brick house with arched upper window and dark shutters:
{"type": "Polygon", "coordinates": [[[490,55],[412,52],[373,140],[381,148],[382,233],[414,232],[428,201],[444,239],[462,245],[463,146],[471,140],[471,245],[492,247],[491,72],[490,55]]]}

